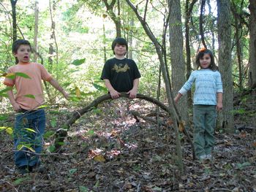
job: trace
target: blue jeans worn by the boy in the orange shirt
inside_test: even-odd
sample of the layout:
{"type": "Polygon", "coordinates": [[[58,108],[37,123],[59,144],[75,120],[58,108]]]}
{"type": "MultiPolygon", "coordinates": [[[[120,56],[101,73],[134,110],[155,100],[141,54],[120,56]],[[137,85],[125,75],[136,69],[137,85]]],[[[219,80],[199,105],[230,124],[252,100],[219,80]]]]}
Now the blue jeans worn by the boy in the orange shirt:
{"type": "Polygon", "coordinates": [[[40,164],[39,153],[42,151],[42,136],[44,132],[45,110],[26,111],[16,114],[14,130],[16,166],[40,164]]]}

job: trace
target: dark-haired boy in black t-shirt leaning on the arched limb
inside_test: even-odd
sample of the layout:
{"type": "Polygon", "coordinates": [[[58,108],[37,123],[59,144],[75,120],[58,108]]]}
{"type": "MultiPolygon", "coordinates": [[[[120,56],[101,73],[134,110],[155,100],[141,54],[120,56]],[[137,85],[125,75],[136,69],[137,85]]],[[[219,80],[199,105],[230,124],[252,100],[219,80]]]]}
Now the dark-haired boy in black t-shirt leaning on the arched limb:
{"type": "Polygon", "coordinates": [[[115,58],[106,61],[101,79],[104,80],[112,99],[117,99],[121,93],[127,92],[129,98],[136,97],[139,85],[140,72],[135,61],[125,58],[128,50],[127,41],[117,37],[112,43],[115,58]]]}

